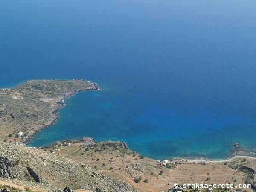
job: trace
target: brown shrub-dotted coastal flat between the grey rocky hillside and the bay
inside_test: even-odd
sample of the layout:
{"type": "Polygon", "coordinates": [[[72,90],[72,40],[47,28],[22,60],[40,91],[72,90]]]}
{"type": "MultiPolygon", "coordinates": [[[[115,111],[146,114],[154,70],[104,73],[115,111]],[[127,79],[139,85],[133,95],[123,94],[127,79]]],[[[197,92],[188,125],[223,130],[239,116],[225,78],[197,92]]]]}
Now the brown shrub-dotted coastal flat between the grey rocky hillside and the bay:
{"type": "MultiPolygon", "coordinates": [[[[89,139],[88,143],[88,139],[85,138],[73,141],[70,147],[53,148],[60,149],[56,153],[86,163],[108,177],[124,180],[141,191],[150,192],[166,191],[175,183],[244,184],[248,173],[240,168],[248,166],[254,169],[256,166],[256,160],[244,160],[242,157],[227,162],[188,162],[186,159],[177,159],[163,165],[162,162],[142,157],[137,152],[129,150],[125,143],[95,143],[92,139],[89,139]],[[138,178],[140,181],[136,183],[135,179],[138,178]]],[[[254,175],[250,179],[252,180],[247,179],[247,182],[253,183],[254,175]]]]}

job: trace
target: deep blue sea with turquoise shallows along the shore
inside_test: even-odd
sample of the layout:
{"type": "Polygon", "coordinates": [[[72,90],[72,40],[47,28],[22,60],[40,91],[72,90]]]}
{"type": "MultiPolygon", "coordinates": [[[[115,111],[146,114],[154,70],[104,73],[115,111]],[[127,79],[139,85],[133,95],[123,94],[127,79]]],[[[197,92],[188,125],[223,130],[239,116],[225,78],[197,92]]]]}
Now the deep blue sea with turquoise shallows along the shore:
{"type": "Polygon", "coordinates": [[[86,79],[32,145],[91,136],[155,159],[256,150],[255,0],[1,0],[0,87],[86,79]]]}

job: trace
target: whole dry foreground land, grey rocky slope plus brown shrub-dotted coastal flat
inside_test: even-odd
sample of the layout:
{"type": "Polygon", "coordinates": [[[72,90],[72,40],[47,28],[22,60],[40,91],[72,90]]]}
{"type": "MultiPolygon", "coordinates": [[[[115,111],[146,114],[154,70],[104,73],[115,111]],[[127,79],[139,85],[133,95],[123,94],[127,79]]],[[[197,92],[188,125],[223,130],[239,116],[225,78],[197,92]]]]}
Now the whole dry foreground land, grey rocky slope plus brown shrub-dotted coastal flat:
{"type": "Polygon", "coordinates": [[[0,143],[0,177],[48,191],[70,186],[80,191],[167,192],[176,190],[174,183],[190,182],[250,183],[255,189],[255,159],[239,157],[221,162],[176,159],[164,164],[129,150],[124,142],[96,143],[83,138],[71,144],[63,147],[56,143],[39,150],[0,143]]]}

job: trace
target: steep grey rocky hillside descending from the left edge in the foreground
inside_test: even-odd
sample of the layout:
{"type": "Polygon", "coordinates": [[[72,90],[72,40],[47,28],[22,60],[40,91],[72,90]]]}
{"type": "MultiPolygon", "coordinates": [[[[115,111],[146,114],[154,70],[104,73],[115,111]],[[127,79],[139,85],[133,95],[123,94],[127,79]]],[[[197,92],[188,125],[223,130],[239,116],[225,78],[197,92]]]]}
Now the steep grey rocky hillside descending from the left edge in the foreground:
{"type": "Polygon", "coordinates": [[[55,189],[70,186],[97,192],[135,192],[134,187],[49,151],[0,143],[0,177],[45,183],[55,189]]]}

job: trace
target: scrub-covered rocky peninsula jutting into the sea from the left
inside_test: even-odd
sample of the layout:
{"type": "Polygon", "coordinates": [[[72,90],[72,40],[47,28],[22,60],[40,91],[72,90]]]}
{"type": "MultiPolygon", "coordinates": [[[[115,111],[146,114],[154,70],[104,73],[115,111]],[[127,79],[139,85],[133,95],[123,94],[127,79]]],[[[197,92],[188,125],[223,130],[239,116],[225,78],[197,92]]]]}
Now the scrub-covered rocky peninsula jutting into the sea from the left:
{"type": "Polygon", "coordinates": [[[0,140],[26,141],[58,119],[55,111],[64,106],[64,99],[79,91],[97,89],[96,83],[78,79],[29,80],[13,88],[0,89],[0,140]]]}

